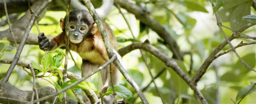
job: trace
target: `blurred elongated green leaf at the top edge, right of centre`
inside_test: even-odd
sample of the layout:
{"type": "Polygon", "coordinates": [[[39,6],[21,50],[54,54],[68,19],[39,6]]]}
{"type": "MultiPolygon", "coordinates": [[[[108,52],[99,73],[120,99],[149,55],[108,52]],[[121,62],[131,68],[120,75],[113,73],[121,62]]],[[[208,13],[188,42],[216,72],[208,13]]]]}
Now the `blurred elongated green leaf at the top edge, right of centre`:
{"type": "Polygon", "coordinates": [[[187,5],[189,9],[208,13],[204,6],[200,5],[199,3],[196,3],[195,1],[185,0],[184,3],[187,5]]]}

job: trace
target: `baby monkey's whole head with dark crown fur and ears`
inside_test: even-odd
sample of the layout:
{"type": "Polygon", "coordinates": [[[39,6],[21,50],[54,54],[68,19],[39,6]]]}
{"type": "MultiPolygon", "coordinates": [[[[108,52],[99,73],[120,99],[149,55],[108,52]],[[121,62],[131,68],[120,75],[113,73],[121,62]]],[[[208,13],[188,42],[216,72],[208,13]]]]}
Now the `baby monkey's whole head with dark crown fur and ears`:
{"type": "MultiPolygon", "coordinates": [[[[60,22],[62,30],[65,31],[65,19],[61,18],[60,22]]],[[[90,33],[94,23],[91,14],[86,10],[78,9],[69,12],[69,40],[72,43],[80,43],[90,33]]]]}

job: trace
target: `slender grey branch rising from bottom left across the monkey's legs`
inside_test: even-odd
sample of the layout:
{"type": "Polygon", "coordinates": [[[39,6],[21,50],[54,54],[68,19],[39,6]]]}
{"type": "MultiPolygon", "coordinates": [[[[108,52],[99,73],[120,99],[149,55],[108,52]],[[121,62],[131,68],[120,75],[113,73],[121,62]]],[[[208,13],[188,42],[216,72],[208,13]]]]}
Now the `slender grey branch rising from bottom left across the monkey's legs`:
{"type": "Polygon", "coordinates": [[[35,102],[37,102],[37,101],[43,101],[43,100],[48,99],[48,98],[50,98],[50,97],[59,95],[60,93],[62,93],[62,92],[64,92],[64,91],[70,89],[71,87],[73,87],[73,86],[79,84],[80,82],[83,82],[86,78],[92,76],[92,75],[95,74],[96,72],[99,72],[100,70],[102,70],[103,68],[105,68],[106,66],[108,66],[111,62],[113,62],[116,58],[117,58],[117,56],[116,56],[116,55],[113,55],[113,57],[112,57],[109,61],[107,61],[105,64],[103,64],[102,66],[100,66],[100,67],[97,68],[95,71],[93,71],[93,72],[91,72],[90,74],[88,74],[87,76],[84,76],[83,78],[79,79],[79,80],[76,81],[75,83],[70,84],[69,86],[67,86],[67,87],[65,87],[65,88],[63,88],[63,89],[61,89],[61,90],[59,90],[59,91],[57,91],[57,92],[55,92],[55,93],[52,93],[51,95],[47,95],[47,96],[41,97],[41,98],[39,98],[38,100],[34,100],[33,102],[30,102],[30,103],[35,103],[35,102]]]}

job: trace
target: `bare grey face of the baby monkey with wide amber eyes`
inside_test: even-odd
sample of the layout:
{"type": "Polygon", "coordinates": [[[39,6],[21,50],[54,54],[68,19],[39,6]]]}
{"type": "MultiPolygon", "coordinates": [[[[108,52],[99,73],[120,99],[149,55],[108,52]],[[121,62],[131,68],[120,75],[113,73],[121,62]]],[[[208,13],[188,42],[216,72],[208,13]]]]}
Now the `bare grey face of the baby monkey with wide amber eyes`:
{"type": "Polygon", "coordinates": [[[80,43],[83,40],[84,35],[88,32],[88,26],[85,23],[79,24],[74,22],[69,22],[69,40],[72,43],[80,43]]]}

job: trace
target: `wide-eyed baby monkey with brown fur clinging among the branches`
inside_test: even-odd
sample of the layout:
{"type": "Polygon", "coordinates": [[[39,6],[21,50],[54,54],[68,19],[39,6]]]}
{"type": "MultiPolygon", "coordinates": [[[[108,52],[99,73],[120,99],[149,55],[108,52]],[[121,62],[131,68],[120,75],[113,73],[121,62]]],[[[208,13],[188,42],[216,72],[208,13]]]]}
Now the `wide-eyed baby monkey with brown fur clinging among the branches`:
{"type": "MultiPolygon", "coordinates": [[[[66,17],[65,17],[66,18],[66,17]]],[[[120,55],[117,53],[117,41],[116,38],[105,22],[102,22],[103,26],[108,34],[113,51],[120,59],[120,55]]],[[[42,32],[38,36],[38,44],[41,50],[54,50],[66,43],[66,32],[65,32],[65,19],[61,18],[60,26],[63,32],[58,36],[52,38],[50,41],[44,36],[42,32]]],[[[101,33],[96,26],[92,16],[86,10],[73,10],[69,14],[68,22],[68,33],[69,33],[69,49],[77,52],[83,59],[81,66],[82,77],[90,74],[93,71],[93,67],[101,66],[106,63],[108,53],[102,40],[101,33]]],[[[119,84],[120,72],[114,64],[107,66],[101,70],[102,77],[102,93],[105,93],[110,88],[110,73],[109,68],[112,69],[113,85],[119,84]]],[[[91,82],[90,78],[85,80],[91,82]]],[[[84,92],[83,92],[84,93],[84,92]]],[[[88,97],[83,94],[83,100],[89,101],[88,97]]],[[[104,104],[111,104],[113,102],[113,95],[103,97],[104,104]]],[[[96,103],[101,103],[101,100],[96,103]]]]}

